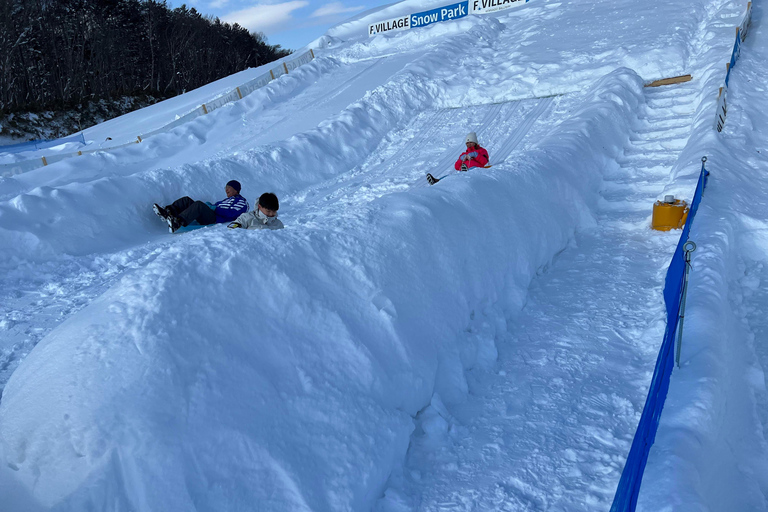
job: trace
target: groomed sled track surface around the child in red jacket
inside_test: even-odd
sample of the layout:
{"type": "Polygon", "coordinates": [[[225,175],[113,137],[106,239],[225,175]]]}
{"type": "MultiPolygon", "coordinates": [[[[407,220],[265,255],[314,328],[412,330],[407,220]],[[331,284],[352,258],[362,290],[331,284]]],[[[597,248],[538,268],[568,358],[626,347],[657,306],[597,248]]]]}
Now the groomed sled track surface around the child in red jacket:
{"type": "Polygon", "coordinates": [[[323,203],[331,209],[338,208],[339,202],[360,206],[412,186],[428,187],[426,173],[443,176],[454,172],[457,155],[464,150],[463,134],[469,130],[477,132],[493,165],[504,163],[515,152],[522,154],[530,147],[532,134],[541,137],[557,125],[562,113],[555,111],[554,100],[531,99],[422,112],[403,129],[387,134],[359,167],[309,187],[291,200],[301,204],[302,214],[306,212],[308,218],[314,218],[329,214],[323,203]],[[307,201],[310,202],[304,204],[307,201]]]}

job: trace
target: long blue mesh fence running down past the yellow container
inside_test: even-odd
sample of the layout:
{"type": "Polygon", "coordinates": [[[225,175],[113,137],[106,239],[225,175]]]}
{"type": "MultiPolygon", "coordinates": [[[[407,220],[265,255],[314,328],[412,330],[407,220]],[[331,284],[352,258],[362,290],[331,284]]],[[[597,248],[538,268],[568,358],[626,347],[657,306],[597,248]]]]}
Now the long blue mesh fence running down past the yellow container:
{"type": "Polygon", "coordinates": [[[635,510],[637,496],[640,493],[640,484],[643,481],[645,463],[648,461],[648,453],[651,450],[653,441],[656,439],[661,410],[664,408],[664,401],[667,399],[669,380],[672,375],[672,367],[675,364],[675,335],[680,318],[680,302],[683,296],[683,281],[685,279],[683,245],[688,241],[688,234],[691,231],[691,224],[693,224],[693,219],[699,208],[701,195],[707,186],[707,176],[709,176],[709,171],[705,169],[704,162],[702,162],[701,174],[696,185],[696,192],[693,194],[688,219],[677,243],[675,254],[672,256],[664,283],[667,330],[664,333],[664,341],[661,343],[659,356],[656,359],[656,369],[653,372],[651,388],[648,390],[648,398],[645,401],[645,407],[643,407],[643,414],[640,416],[640,423],[637,425],[635,438],[632,440],[632,447],[629,449],[629,455],[627,456],[627,462],[624,465],[624,470],[621,472],[619,486],[613,498],[613,505],[611,505],[611,512],[630,512],[635,510]]]}

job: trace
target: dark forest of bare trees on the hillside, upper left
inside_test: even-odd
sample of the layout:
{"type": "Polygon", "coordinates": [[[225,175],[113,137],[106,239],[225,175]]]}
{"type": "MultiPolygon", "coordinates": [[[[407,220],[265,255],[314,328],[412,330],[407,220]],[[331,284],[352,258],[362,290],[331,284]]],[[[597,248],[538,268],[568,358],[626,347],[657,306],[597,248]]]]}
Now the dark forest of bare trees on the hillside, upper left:
{"type": "Polygon", "coordinates": [[[288,53],[165,0],[0,0],[0,113],[170,97],[288,53]]]}

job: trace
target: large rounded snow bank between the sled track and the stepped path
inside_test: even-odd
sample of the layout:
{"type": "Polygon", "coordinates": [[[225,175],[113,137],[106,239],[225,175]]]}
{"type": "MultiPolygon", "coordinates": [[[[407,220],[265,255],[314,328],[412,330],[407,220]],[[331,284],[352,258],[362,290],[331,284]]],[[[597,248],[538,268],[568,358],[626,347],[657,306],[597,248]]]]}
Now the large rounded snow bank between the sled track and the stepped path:
{"type": "Polygon", "coordinates": [[[456,333],[519,308],[591,221],[641,83],[600,80],[523,162],[279,232],[184,235],[13,374],[16,479],[57,510],[370,508],[414,415],[487,364],[456,333]]]}

